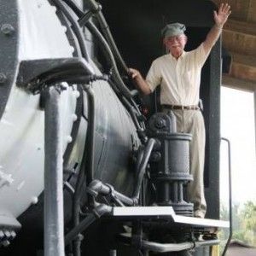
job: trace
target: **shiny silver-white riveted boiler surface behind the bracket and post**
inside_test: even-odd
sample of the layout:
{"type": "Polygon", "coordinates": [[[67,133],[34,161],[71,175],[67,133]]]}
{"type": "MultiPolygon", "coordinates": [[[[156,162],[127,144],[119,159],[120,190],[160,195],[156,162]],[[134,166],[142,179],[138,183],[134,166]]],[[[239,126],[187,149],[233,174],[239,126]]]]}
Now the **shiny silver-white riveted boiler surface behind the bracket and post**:
{"type": "MultiPolygon", "coordinates": [[[[45,0],[20,0],[19,11],[20,61],[72,57],[55,7],[45,0]]],[[[72,140],[77,97],[73,88],[61,93],[63,149],[72,140]]],[[[13,85],[0,120],[0,215],[19,216],[44,189],[44,111],[38,104],[39,96],[13,85]]]]}

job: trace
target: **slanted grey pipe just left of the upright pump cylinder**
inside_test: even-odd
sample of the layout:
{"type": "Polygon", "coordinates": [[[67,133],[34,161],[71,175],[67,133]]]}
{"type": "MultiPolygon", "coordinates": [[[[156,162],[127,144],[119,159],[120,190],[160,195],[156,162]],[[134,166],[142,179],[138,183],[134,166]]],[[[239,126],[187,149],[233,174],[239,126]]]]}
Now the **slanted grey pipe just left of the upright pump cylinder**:
{"type": "Polygon", "coordinates": [[[150,157],[150,154],[154,148],[154,144],[156,143],[154,138],[150,138],[148,140],[147,146],[145,148],[144,154],[143,154],[143,160],[139,168],[139,172],[137,174],[137,183],[133,192],[133,199],[138,200],[140,195],[140,189],[143,182],[143,177],[146,171],[146,167],[148,166],[148,160],[150,157]]]}

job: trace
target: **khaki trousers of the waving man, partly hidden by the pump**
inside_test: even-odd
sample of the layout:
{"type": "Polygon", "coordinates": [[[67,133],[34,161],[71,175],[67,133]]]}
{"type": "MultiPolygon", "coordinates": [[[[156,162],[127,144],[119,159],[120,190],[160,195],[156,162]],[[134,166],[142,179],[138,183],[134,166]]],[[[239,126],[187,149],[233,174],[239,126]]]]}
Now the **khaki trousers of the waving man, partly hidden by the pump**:
{"type": "MultiPolygon", "coordinates": [[[[170,110],[164,108],[163,112],[170,110]]],[[[200,110],[172,110],[177,119],[177,132],[190,133],[192,141],[189,145],[190,173],[194,180],[188,184],[188,201],[194,203],[195,217],[204,218],[207,204],[204,193],[204,163],[206,131],[200,110]]]]}

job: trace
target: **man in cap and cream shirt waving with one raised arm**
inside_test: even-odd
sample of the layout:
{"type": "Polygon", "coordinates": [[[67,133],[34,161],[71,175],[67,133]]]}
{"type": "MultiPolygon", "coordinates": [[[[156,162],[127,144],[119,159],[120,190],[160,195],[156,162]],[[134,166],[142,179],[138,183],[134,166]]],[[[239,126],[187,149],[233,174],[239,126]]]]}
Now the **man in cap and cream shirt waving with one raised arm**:
{"type": "Polygon", "coordinates": [[[171,109],[177,118],[177,131],[193,136],[190,143],[190,171],[194,181],[188,185],[188,196],[189,201],[194,203],[197,218],[204,218],[207,209],[203,188],[205,125],[198,107],[201,68],[230,13],[230,5],[222,3],[218,12],[213,13],[215,25],[208,32],[206,40],[189,52],[184,51],[187,43],[185,26],[180,23],[167,25],[162,34],[169,54],[153,61],[146,80],[136,69],[130,68],[132,79],[145,95],[161,85],[160,103],[163,111],[171,109]]]}

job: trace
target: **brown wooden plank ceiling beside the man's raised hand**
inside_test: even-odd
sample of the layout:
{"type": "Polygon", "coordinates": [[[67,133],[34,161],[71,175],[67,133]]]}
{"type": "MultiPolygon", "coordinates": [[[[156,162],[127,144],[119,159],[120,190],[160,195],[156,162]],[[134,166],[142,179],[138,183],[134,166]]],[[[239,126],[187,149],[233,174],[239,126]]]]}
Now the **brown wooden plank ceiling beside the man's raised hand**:
{"type": "MultiPolygon", "coordinates": [[[[224,2],[213,0],[218,6],[224,2]]],[[[224,25],[223,46],[231,55],[223,84],[256,91],[256,0],[227,0],[231,15],[224,25]]]]}

